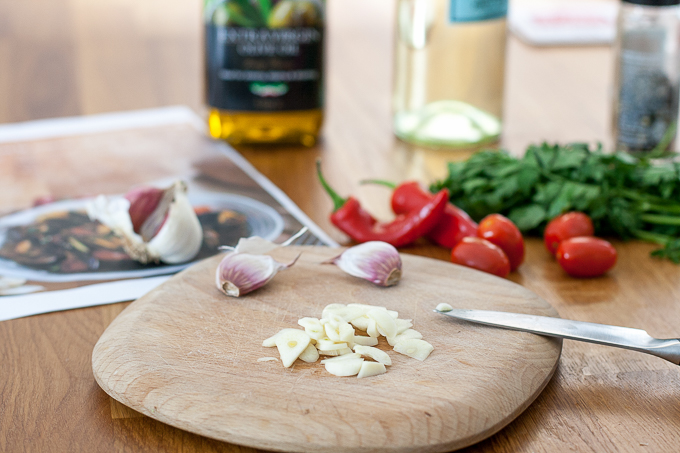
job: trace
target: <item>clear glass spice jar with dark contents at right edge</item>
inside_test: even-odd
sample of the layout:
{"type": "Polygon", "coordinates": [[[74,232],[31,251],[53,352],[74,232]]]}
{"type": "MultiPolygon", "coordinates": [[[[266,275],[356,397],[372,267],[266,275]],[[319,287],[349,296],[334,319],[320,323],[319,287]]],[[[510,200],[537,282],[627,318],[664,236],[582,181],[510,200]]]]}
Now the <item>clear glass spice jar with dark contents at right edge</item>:
{"type": "Polygon", "coordinates": [[[624,0],[614,83],[616,149],[669,152],[678,122],[680,0],[624,0]]]}

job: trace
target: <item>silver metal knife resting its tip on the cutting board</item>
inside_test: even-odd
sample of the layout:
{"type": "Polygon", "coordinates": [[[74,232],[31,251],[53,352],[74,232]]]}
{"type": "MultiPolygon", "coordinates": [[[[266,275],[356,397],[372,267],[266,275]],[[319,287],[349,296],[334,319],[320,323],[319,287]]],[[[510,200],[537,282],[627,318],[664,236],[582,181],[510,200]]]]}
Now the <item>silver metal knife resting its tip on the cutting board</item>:
{"type": "Polygon", "coordinates": [[[631,349],[680,365],[680,340],[654,338],[641,329],[502,311],[454,308],[450,311],[434,310],[434,312],[488,326],[631,349]]]}

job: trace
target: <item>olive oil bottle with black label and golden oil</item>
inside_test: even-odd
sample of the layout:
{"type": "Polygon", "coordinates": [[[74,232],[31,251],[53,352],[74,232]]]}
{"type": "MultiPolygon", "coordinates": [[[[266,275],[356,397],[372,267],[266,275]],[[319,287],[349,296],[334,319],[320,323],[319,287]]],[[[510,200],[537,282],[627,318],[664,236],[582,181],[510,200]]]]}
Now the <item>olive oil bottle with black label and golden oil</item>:
{"type": "Polygon", "coordinates": [[[316,143],[323,120],[325,0],[205,0],[210,135],[316,143]]]}

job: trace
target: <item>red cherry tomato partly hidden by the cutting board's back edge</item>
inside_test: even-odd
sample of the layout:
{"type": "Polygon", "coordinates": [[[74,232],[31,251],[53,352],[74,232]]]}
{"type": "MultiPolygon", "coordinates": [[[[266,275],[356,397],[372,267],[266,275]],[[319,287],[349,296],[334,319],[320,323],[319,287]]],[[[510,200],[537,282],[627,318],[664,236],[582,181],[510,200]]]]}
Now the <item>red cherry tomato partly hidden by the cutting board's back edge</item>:
{"type": "Polygon", "coordinates": [[[499,277],[507,277],[510,273],[510,261],[505,252],[486,239],[461,239],[451,251],[451,261],[499,277]]]}

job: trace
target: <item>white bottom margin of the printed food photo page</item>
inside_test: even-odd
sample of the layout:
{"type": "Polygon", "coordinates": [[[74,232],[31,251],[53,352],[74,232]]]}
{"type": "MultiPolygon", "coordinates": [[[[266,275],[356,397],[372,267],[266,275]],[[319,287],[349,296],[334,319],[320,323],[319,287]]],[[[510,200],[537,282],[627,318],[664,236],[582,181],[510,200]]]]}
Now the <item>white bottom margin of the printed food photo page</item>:
{"type": "Polygon", "coordinates": [[[0,321],[24,316],[125,302],[142,297],[170,275],[96,283],[79,288],[0,297],[0,321]]]}

